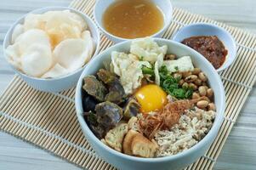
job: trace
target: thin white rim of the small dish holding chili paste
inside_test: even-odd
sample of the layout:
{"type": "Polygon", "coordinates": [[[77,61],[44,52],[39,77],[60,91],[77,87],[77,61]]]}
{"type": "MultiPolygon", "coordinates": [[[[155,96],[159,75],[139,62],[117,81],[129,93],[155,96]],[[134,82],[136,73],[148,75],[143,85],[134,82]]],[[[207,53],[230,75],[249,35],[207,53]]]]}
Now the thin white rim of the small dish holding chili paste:
{"type": "MultiPolygon", "coordinates": [[[[232,65],[232,63],[235,61],[237,55],[236,55],[236,41],[234,39],[234,37],[232,37],[232,35],[230,34],[229,31],[226,31],[223,27],[220,27],[220,26],[217,26],[217,25],[214,25],[212,23],[204,23],[204,22],[197,22],[197,23],[193,23],[193,24],[188,24],[188,25],[185,25],[185,26],[182,26],[178,31],[176,31],[174,33],[174,36],[172,37],[172,40],[177,41],[177,37],[179,37],[179,34],[182,32],[182,31],[185,31],[185,30],[189,30],[189,29],[192,29],[193,27],[195,26],[202,26],[204,27],[205,29],[208,29],[206,27],[212,27],[213,29],[216,29],[220,32],[223,32],[229,39],[230,39],[230,42],[231,42],[231,47],[232,47],[232,52],[233,52],[233,55],[231,55],[229,57],[229,59],[226,59],[225,60],[225,63],[227,63],[229,61],[229,63],[227,65],[225,65],[225,63],[223,65],[221,65],[219,67],[219,69],[215,69],[216,71],[224,71],[225,69],[227,69],[230,65],[232,65]]],[[[225,42],[225,41],[224,41],[225,42]]]]}

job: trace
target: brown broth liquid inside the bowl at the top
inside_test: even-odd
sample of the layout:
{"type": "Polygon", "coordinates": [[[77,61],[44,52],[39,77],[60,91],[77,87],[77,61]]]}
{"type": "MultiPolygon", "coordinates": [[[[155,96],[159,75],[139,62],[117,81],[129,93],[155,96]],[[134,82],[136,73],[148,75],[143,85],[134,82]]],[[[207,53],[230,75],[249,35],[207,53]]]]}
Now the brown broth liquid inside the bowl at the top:
{"type": "Polygon", "coordinates": [[[162,29],[163,15],[150,0],[117,0],[105,10],[103,25],[117,37],[147,37],[162,29]]]}

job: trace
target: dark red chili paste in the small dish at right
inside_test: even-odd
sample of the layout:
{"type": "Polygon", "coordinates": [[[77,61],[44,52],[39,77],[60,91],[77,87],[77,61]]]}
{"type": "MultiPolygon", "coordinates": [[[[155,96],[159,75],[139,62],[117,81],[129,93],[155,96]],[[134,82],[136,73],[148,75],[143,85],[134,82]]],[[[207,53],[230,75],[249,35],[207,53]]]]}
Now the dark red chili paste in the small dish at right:
{"type": "Polygon", "coordinates": [[[228,51],[217,36],[188,37],[181,43],[202,54],[215,69],[223,65],[228,51]]]}

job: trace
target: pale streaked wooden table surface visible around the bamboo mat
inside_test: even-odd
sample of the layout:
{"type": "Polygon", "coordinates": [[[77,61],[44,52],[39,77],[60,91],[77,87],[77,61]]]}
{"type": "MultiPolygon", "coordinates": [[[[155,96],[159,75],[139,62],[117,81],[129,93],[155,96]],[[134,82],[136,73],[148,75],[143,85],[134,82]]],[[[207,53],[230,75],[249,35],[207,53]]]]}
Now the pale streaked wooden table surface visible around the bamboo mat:
{"type": "MultiPolygon", "coordinates": [[[[174,7],[185,8],[256,33],[254,0],[171,0],[174,7]]],[[[0,0],[0,94],[14,77],[3,59],[3,37],[22,14],[46,6],[68,6],[71,0],[0,0]]],[[[242,97],[242,96],[241,96],[242,97]]],[[[214,169],[256,169],[256,88],[247,99],[214,169]]],[[[20,139],[0,132],[0,169],[80,169],[71,163],[37,149],[20,139]]]]}

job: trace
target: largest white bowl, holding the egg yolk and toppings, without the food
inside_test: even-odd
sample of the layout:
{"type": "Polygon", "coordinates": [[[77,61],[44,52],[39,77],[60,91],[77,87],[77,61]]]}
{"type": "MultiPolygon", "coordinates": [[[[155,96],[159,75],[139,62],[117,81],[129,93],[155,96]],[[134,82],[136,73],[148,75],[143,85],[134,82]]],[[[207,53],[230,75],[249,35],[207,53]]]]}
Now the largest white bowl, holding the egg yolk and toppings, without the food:
{"type": "Polygon", "coordinates": [[[76,89],[76,111],[78,121],[82,127],[82,132],[86,136],[86,139],[88,139],[89,144],[92,145],[97,154],[105,161],[108,161],[113,166],[122,170],[162,170],[186,167],[206,153],[209,146],[213,143],[213,140],[219,131],[219,127],[224,120],[225,91],[220,77],[217,71],[213,68],[213,65],[211,65],[201,54],[179,42],[161,38],[154,39],[159,45],[168,45],[168,53],[176,54],[179,57],[185,55],[191,56],[193,64],[196,65],[196,67],[201,68],[201,70],[207,75],[210,87],[213,88],[214,91],[214,102],[217,109],[217,116],[215,117],[213,127],[210,129],[209,133],[198,144],[191,147],[191,149],[185,150],[174,156],[140,158],[122,154],[106,146],[100,141],[100,139],[95,137],[94,133],[90,130],[82,116],[82,78],[88,75],[95,75],[100,68],[103,68],[103,63],[111,60],[112,51],[128,52],[131,41],[121,42],[111,48],[107,48],[103,53],[94,57],[94,59],[92,59],[88,63],[87,67],[82,71],[82,75],[79,78],[76,89]]]}

